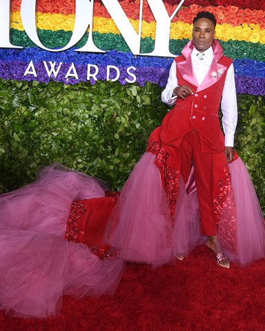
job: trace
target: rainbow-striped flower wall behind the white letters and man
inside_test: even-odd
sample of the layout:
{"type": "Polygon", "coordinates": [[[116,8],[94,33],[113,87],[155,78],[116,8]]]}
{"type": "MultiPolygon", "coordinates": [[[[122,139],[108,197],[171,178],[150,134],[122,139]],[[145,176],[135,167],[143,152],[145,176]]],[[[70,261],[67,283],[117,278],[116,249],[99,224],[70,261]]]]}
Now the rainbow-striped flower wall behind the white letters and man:
{"type": "MultiPolygon", "coordinates": [[[[168,14],[172,14],[177,3],[165,0],[168,14]]],[[[224,52],[234,59],[237,93],[265,95],[265,5],[264,1],[234,0],[186,0],[170,29],[170,52],[179,54],[192,32],[193,17],[201,10],[213,12],[217,17],[216,35],[224,52]],[[254,3],[253,3],[254,2],[254,3]]],[[[20,17],[21,0],[13,0],[11,41],[23,46],[22,50],[0,48],[0,77],[2,79],[38,80],[48,83],[50,79],[75,84],[87,81],[88,63],[97,65],[97,79],[106,80],[106,66],[117,66],[121,72],[119,82],[125,84],[126,69],[136,68],[137,83],[146,81],[164,87],[172,58],[135,57],[129,50],[114,21],[99,0],[95,0],[93,40],[105,54],[76,52],[84,45],[88,35],[75,48],[63,52],[49,52],[35,46],[23,30],[20,17]],[[24,76],[30,61],[33,61],[37,77],[24,76]],[[48,77],[43,61],[62,62],[57,77],[48,77]],[[66,79],[70,64],[74,63],[79,79],[66,79]]],[[[139,0],[120,0],[119,3],[137,31],[139,26],[139,0]]],[[[141,33],[141,52],[151,52],[155,43],[155,19],[148,3],[144,1],[141,33]]],[[[62,48],[71,35],[75,23],[75,0],[37,0],[37,28],[39,39],[48,48],[62,48]]],[[[90,79],[90,83],[95,83],[90,79]]]]}

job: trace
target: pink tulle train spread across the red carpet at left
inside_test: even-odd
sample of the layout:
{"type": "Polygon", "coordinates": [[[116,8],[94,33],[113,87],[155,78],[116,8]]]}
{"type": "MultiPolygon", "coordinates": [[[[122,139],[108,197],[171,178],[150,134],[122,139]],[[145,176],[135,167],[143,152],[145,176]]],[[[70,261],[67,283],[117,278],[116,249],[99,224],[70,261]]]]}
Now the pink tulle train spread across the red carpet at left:
{"type": "Polygon", "coordinates": [[[0,309],[14,317],[59,314],[63,295],[113,294],[124,261],[100,260],[87,245],[64,239],[72,201],[104,197],[80,172],[55,165],[0,197],[0,309]]]}

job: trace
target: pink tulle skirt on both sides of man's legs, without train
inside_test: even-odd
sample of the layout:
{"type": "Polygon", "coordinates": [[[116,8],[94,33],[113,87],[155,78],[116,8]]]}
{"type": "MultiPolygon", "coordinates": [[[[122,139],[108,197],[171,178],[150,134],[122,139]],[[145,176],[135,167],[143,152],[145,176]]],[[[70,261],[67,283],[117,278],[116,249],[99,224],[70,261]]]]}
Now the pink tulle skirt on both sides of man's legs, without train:
{"type": "MultiPolygon", "coordinates": [[[[242,160],[233,161],[229,168],[237,218],[235,247],[230,251],[220,245],[230,261],[246,265],[265,257],[264,219],[242,160]]],[[[223,230],[226,212],[224,208],[220,219],[223,230]]],[[[226,235],[222,233],[222,237],[226,235]]],[[[172,223],[155,155],[144,154],[124,185],[106,229],[106,240],[119,249],[122,259],[156,267],[173,263],[175,257],[187,257],[206,239],[199,232],[199,203],[192,173],[186,185],[180,177],[172,223]]]]}

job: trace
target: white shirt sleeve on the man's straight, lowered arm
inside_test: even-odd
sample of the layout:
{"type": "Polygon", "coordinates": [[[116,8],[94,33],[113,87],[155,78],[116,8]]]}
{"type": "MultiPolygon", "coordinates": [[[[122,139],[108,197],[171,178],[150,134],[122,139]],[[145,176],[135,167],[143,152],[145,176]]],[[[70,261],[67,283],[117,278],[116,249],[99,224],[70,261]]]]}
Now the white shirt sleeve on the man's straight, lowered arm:
{"type": "Polygon", "coordinates": [[[237,126],[237,94],[235,90],[235,73],[233,63],[227,70],[226,81],[221,101],[222,124],[225,146],[234,146],[235,128],[237,126]]]}

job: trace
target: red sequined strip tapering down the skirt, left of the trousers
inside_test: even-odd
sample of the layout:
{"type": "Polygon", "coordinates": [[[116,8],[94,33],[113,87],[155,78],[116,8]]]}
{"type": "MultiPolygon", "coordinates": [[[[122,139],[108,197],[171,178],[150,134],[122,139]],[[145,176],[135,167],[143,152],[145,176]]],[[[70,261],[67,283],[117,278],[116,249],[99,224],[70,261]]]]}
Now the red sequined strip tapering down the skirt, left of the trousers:
{"type": "Polygon", "coordinates": [[[164,184],[164,190],[168,196],[170,214],[173,222],[175,218],[177,194],[179,192],[179,171],[168,166],[169,154],[164,150],[161,144],[153,141],[153,139],[148,141],[146,151],[157,155],[155,164],[161,173],[162,183],[164,184]]]}

